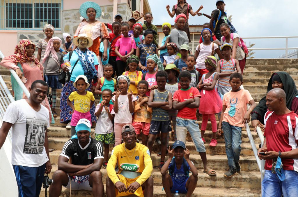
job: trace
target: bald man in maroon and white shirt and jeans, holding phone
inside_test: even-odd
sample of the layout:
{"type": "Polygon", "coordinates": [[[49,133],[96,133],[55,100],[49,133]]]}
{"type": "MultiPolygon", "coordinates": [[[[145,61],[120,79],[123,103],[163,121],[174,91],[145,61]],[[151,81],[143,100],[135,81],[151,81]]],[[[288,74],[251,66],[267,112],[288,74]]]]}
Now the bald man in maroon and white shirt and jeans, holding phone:
{"type": "Polygon", "coordinates": [[[285,92],[280,88],[267,93],[266,105],[265,140],[258,151],[265,152],[258,156],[266,159],[262,196],[298,196],[298,115],[287,108],[285,92]],[[278,156],[283,163],[284,181],[271,172],[272,159],[278,156]]]}

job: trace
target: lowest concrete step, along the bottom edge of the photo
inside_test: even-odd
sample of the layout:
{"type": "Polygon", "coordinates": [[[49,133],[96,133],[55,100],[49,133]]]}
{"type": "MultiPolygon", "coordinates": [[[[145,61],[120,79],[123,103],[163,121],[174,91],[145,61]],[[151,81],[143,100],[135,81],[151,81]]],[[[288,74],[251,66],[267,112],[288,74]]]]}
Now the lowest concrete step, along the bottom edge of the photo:
{"type": "MultiPolygon", "coordinates": [[[[104,182],[104,181],[103,181],[104,182]]],[[[103,184],[104,190],[106,188],[106,185],[103,184]]],[[[153,196],[154,197],[165,197],[166,194],[163,191],[162,186],[153,186],[153,196]]],[[[47,190],[47,196],[49,196],[49,190],[47,190]]],[[[93,197],[92,191],[87,191],[87,190],[79,190],[79,191],[72,191],[71,192],[71,197],[93,197]]],[[[106,193],[104,191],[104,197],[106,196],[106,193]]],[[[172,194],[174,196],[174,194],[172,194]]],[[[185,194],[179,194],[180,197],[185,197],[185,194]]],[[[192,197],[256,197],[256,196],[261,196],[261,191],[260,190],[252,190],[252,189],[247,189],[247,188],[211,188],[211,187],[196,187],[192,197]]],[[[41,189],[41,193],[39,197],[45,197],[45,189],[41,189]]],[[[65,187],[62,187],[61,195],[60,197],[69,197],[69,190],[67,190],[65,187]]]]}

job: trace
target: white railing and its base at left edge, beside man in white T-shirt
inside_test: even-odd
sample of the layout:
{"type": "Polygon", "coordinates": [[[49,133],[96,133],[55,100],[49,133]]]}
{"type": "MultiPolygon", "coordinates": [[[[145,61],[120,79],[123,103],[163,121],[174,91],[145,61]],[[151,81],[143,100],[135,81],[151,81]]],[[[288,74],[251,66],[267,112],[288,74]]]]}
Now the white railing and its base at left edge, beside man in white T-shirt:
{"type": "MultiPolygon", "coordinates": [[[[3,59],[4,55],[0,51],[0,57],[3,59]]],[[[20,82],[20,78],[15,73],[14,70],[10,71],[16,79],[20,82]],[[13,71],[13,72],[12,72],[13,71]]],[[[24,84],[21,82],[21,85],[24,84]]],[[[25,86],[24,86],[25,87],[25,86]]],[[[25,88],[26,89],[26,88],[25,88]]],[[[28,90],[27,90],[28,92],[28,90]]],[[[26,93],[26,91],[25,91],[26,93]]],[[[27,94],[26,94],[27,95],[27,94]]],[[[29,96],[29,92],[28,92],[29,96]]],[[[10,103],[14,101],[7,85],[5,84],[3,78],[0,75],[0,127],[2,125],[3,117],[5,111],[10,103]]],[[[15,174],[13,172],[13,167],[11,165],[11,146],[12,146],[12,133],[11,130],[8,132],[7,138],[0,149],[0,184],[1,191],[0,196],[18,196],[18,187],[16,184],[15,174]]]]}

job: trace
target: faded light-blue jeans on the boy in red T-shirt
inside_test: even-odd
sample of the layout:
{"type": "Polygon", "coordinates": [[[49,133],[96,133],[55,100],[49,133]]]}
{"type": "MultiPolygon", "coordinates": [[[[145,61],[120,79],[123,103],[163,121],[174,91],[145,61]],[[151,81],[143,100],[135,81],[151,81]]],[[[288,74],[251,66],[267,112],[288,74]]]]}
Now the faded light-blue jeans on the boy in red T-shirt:
{"type": "Polygon", "coordinates": [[[197,152],[206,152],[198,120],[176,117],[176,136],[177,140],[186,142],[186,133],[190,133],[197,152]]]}

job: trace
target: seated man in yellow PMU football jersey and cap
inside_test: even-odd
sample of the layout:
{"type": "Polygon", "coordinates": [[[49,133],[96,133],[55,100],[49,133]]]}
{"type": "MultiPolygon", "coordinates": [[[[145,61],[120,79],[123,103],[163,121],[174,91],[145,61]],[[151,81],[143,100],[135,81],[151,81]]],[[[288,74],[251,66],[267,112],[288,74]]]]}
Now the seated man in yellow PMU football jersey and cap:
{"type": "Polygon", "coordinates": [[[122,127],[122,138],[124,143],[114,147],[108,161],[107,196],[153,196],[153,167],[149,149],[136,143],[136,132],[131,124],[122,127]],[[118,174],[115,171],[117,162],[118,174]]]}

